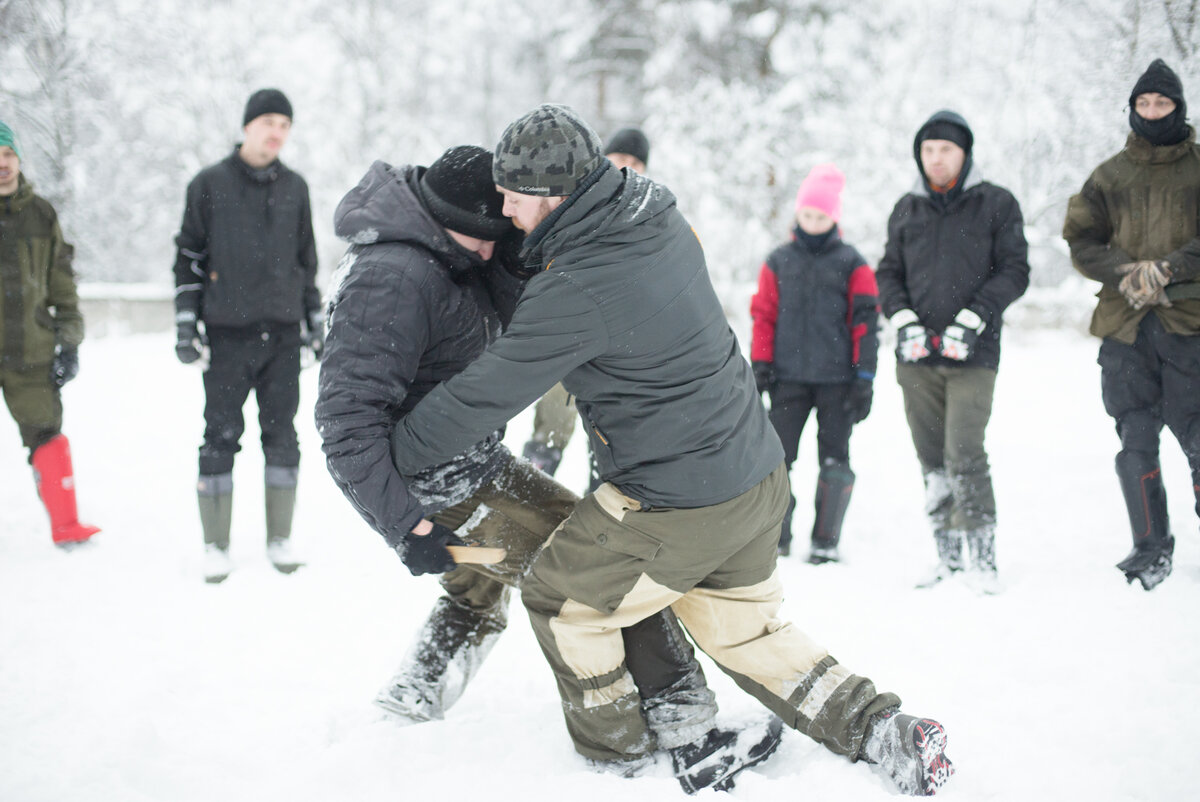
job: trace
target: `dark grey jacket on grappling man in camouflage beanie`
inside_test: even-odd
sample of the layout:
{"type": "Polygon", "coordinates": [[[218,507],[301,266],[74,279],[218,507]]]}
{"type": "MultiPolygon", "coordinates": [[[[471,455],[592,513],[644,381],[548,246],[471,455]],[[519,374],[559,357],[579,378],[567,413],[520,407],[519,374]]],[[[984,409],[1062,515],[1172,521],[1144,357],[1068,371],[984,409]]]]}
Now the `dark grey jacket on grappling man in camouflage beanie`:
{"type": "Polygon", "coordinates": [[[394,435],[402,471],[444,460],[558,379],[604,480],[650,507],[738,496],[784,451],[674,196],[605,163],[526,241],[529,280],[503,337],[394,435]]]}

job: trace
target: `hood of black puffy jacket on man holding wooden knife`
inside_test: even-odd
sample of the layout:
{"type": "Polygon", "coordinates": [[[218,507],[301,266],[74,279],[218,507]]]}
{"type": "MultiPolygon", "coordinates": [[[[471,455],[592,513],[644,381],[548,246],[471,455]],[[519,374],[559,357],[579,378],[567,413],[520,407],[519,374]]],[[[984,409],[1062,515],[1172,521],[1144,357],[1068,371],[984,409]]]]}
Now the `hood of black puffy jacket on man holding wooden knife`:
{"type": "Polygon", "coordinates": [[[481,264],[430,216],[418,191],[424,173],[424,167],[374,162],[337,204],[334,232],[350,245],[416,245],[432,251],[451,269],[481,264]]]}

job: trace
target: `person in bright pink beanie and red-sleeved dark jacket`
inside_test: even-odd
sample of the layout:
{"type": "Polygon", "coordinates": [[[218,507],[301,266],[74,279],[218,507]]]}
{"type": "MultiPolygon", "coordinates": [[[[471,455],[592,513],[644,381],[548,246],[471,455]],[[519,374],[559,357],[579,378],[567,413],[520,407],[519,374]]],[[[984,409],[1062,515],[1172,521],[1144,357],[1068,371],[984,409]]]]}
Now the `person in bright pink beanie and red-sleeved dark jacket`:
{"type": "MultiPolygon", "coordinates": [[[[878,287],[866,259],[841,239],[846,176],[817,164],[796,196],[792,240],[770,252],[750,301],[750,360],[770,423],[792,469],[809,414],[817,413],[816,514],[809,562],[838,559],[841,523],[854,489],[850,432],[871,411],[878,349],[878,287]]],[[[790,496],[779,553],[792,544],[790,496]]]]}

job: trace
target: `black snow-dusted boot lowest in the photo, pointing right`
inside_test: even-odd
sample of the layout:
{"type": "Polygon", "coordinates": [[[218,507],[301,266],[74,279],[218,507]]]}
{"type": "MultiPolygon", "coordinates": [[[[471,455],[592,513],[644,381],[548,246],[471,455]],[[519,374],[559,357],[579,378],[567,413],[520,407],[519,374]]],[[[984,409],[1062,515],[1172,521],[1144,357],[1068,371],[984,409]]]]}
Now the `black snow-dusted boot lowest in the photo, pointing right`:
{"type": "Polygon", "coordinates": [[[700,741],[671,749],[676,779],[688,794],[713,788],[728,791],[739,772],[769,758],[784,737],[776,716],[742,730],[712,729],[700,741]]]}

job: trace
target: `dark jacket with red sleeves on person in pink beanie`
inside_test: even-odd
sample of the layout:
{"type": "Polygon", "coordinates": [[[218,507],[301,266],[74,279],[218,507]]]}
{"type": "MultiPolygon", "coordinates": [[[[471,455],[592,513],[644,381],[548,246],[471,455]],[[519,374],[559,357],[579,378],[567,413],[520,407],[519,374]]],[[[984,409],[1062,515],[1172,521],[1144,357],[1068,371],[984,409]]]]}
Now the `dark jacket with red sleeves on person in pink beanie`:
{"type": "Polygon", "coordinates": [[[836,229],[816,250],[797,229],[758,273],[750,359],[773,363],[781,382],[874,378],[878,305],[875,274],[836,229]]]}

